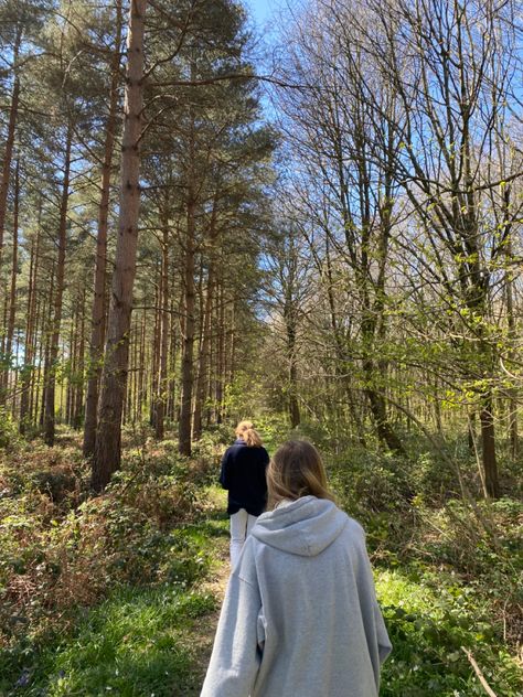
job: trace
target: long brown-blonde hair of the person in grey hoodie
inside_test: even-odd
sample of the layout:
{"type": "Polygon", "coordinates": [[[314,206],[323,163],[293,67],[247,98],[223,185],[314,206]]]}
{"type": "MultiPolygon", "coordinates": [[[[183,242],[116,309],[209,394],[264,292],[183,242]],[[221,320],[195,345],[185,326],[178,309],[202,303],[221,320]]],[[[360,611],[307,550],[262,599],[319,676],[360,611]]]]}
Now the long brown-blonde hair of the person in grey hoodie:
{"type": "Polygon", "coordinates": [[[269,508],[301,496],[334,501],[320,453],[306,440],[289,440],[278,448],[267,468],[267,489],[269,508]]]}

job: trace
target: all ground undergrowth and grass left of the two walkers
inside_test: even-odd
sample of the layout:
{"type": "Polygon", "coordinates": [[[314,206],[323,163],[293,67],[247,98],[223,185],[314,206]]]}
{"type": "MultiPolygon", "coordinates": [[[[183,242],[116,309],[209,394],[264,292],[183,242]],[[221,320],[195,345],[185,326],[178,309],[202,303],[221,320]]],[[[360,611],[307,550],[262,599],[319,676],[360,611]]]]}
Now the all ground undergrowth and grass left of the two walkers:
{"type": "Polygon", "coordinates": [[[96,497],[74,435],[0,457],[1,697],[198,694],[203,583],[228,538],[220,439],[191,460],[130,442],[96,497]]]}

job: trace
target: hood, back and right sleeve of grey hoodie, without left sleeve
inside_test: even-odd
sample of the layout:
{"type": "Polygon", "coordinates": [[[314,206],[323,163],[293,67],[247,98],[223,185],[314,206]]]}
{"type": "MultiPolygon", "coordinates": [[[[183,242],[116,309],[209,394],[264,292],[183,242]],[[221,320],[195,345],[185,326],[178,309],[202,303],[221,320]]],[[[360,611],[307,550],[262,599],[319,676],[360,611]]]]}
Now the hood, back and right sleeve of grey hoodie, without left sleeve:
{"type": "Polygon", "coordinates": [[[252,695],[377,695],[388,640],[360,525],[330,501],[302,497],[258,518],[248,555],[238,575],[259,589],[264,643],[252,695]]]}

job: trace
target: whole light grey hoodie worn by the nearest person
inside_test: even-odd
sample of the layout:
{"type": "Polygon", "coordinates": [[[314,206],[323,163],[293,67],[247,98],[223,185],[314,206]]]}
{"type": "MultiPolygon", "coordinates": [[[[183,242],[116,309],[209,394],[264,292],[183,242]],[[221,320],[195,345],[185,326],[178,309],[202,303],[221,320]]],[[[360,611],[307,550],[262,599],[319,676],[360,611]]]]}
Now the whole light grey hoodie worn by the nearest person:
{"type": "Polygon", "coordinates": [[[376,697],[389,652],[362,527],[305,496],[247,538],[201,697],[376,697]]]}

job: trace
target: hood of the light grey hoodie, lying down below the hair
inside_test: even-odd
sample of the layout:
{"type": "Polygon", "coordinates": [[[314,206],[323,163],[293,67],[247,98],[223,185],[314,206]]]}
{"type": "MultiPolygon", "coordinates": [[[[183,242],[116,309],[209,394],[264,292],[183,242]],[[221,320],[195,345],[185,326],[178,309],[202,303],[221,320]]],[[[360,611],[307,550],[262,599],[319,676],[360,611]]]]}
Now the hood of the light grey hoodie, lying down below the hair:
{"type": "Polygon", "coordinates": [[[348,523],[349,516],[332,501],[303,496],[263,513],[250,534],[282,551],[316,557],[332,545],[348,523]]]}

